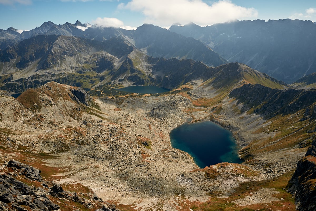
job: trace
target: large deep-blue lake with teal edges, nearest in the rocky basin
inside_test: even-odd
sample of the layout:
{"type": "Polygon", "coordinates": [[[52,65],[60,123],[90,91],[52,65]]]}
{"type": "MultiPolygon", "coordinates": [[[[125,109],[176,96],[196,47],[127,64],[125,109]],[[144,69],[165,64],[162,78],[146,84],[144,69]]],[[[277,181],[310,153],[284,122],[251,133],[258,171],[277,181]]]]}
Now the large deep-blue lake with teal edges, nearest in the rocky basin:
{"type": "Polygon", "coordinates": [[[188,152],[200,167],[241,163],[232,133],[211,121],[185,123],[170,133],[171,146],[188,152]]]}

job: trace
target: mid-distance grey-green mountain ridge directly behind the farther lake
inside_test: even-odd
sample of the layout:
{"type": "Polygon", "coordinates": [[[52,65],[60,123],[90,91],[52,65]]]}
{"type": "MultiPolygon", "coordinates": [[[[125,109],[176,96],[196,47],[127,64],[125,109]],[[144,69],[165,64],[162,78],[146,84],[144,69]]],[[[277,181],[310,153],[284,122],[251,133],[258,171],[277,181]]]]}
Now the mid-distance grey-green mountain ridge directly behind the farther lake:
{"type": "Polygon", "coordinates": [[[1,87],[15,93],[52,80],[96,90],[123,83],[173,89],[199,78],[218,87],[233,88],[231,85],[241,80],[273,88],[285,87],[283,82],[246,65],[208,67],[192,59],[153,58],[119,38],[101,42],[64,35],[38,35],[0,51],[0,55],[1,87]]]}

